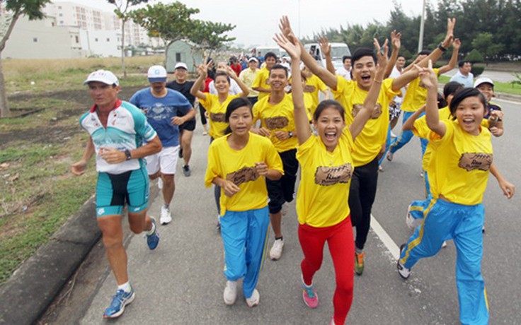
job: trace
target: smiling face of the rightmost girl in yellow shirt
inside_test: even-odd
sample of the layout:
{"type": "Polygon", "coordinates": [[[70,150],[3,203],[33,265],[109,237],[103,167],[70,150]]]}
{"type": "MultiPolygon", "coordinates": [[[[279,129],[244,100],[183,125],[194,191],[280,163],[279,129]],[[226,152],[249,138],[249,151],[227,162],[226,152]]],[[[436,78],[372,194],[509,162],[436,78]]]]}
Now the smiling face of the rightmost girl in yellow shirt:
{"type": "Polygon", "coordinates": [[[478,96],[467,97],[456,107],[456,119],[468,134],[477,136],[481,121],[485,115],[485,107],[478,96]]]}

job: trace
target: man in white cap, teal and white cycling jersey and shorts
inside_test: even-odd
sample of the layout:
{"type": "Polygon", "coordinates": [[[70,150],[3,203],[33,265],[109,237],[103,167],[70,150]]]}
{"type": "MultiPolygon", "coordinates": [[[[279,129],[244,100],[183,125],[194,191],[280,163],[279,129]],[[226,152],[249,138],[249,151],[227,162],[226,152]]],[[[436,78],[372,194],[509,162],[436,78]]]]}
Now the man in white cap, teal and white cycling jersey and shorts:
{"type": "Polygon", "coordinates": [[[90,137],[83,157],[71,165],[71,172],[77,176],[84,174],[88,160],[96,154],[97,221],[118,283],[118,290],[103,318],[115,318],[135,297],[128,280],[127,253],[122,242],[121,218],[125,202],[130,230],[137,234],[144,232],[149,249],[155,249],[159,243],[156,222],[147,215],[149,180],[143,158],[158,153],[161,141],[137,107],[118,100],[120,86],[112,72],[94,71],[84,85],[88,85],[94,105],[81,116],[80,125],[90,137]],[[147,144],[143,145],[143,141],[147,144]]]}

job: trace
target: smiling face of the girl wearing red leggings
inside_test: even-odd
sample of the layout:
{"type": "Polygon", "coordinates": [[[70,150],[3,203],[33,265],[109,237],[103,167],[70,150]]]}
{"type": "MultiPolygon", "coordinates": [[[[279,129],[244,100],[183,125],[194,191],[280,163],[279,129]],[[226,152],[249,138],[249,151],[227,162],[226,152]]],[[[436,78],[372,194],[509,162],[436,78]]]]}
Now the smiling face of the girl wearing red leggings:
{"type": "Polygon", "coordinates": [[[313,124],[326,149],[328,151],[335,150],[338,139],[345,128],[345,122],[340,111],[332,106],[326,107],[320,112],[319,118],[313,121],[313,124]]]}

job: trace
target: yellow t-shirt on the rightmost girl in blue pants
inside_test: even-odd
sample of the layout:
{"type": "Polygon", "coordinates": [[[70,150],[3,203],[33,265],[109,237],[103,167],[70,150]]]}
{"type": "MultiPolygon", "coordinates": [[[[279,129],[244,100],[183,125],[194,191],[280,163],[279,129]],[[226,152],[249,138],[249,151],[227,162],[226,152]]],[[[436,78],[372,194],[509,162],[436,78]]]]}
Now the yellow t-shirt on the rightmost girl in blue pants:
{"type": "Polygon", "coordinates": [[[428,138],[435,150],[428,170],[433,197],[469,206],[481,203],[493,162],[491,133],[481,126],[480,134],[472,136],[457,121],[442,122],[445,135],[431,131],[428,138]]]}

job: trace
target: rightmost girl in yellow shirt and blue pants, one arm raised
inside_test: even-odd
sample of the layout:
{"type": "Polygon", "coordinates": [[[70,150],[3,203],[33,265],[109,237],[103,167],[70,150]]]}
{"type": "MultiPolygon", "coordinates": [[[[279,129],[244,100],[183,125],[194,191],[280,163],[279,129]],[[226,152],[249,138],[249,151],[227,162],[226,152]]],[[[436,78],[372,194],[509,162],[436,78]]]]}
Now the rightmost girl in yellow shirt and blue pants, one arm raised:
{"type": "MultiPolygon", "coordinates": [[[[458,254],[459,320],[462,324],[488,324],[488,302],[481,276],[481,229],[485,217],[481,201],[489,171],[493,170],[491,132],[481,126],[486,100],[479,90],[464,88],[450,102],[450,113],[455,119],[442,121],[432,61],[427,69],[420,69],[420,78],[428,90],[425,121],[431,130],[428,140],[435,149],[428,167],[433,200],[425,211],[423,224],[401,245],[396,267],[406,279],[418,260],[437,254],[444,240],[454,240],[458,254]]],[[[515,187],[497,170],[493,173],[510,199],[515,187]]]]}

